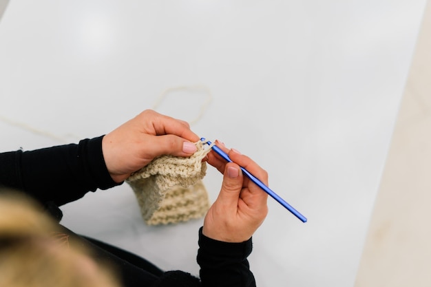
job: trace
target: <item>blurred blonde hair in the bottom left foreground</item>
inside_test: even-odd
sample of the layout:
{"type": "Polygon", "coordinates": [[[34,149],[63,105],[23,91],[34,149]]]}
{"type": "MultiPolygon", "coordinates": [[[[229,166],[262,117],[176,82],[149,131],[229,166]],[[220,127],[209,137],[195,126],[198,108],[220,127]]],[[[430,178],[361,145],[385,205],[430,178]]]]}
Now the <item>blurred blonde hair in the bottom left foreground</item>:
{"type": "Polygon", "coordinates": [[[38,204],[0,189],[0,286],[118,287],[116,276],[62,233],[38,204]]]}

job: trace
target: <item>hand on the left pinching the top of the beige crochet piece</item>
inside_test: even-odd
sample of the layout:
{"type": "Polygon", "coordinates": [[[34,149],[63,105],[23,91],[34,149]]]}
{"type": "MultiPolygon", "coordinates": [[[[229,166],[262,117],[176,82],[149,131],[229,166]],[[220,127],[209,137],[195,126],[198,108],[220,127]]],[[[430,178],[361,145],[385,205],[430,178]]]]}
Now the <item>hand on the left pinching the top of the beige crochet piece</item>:
{"type": "Polygon", "coordinates": [[[147,109],[103,137],[102,150],[112,179],[122,182],[157,156],[191,156],[198,140],[187,122],[147,109]]]}

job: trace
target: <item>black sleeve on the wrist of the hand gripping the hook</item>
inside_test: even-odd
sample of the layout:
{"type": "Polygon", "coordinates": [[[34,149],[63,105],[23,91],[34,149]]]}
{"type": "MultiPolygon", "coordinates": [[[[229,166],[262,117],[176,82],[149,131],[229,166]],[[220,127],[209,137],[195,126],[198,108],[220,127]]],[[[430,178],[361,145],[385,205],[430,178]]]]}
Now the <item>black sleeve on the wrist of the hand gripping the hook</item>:
{"type": "Polygon", "coordinates": [[[203,287],[255,287],[255,278],[247,257],[252,250],[251,238],[229,243],[213,240],[199,230],[198,264],[203,287]]]}

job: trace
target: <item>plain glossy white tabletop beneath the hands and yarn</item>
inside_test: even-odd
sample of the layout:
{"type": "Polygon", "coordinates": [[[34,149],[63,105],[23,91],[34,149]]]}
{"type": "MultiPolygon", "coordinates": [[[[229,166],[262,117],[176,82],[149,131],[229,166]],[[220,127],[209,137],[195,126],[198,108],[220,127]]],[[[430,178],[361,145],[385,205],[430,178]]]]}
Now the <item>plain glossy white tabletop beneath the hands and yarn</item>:
{"type": "MultiPolygon", "coordinates": [[[[10,1],[0,21],[0,148],[114,129],[151,108],[269,171],[258,286],[353,286],[424,0],[10,1]],[[193,121],[197,119],[196,121],[193,121]]],[[[221,176],[204,182],[215,200],[221,176]]],[[[67,184],[67,182],[65,182],[67,184]]],[[[61,187],[59,187],[61,192],[61,187]]],[[[202,220],[145,226],[123,184],[63,206],[63,224],[198,274],[202,220]]]]}

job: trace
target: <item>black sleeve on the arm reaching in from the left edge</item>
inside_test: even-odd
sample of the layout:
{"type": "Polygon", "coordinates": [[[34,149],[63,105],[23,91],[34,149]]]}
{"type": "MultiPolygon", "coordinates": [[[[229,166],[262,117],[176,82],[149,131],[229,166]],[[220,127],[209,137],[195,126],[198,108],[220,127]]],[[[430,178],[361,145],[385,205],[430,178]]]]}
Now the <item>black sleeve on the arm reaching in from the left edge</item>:
{"type": "Polygon", "coordinates": [[[114,187],[118,184],[107,171],[102,139],[0,153],[0,184],[57,206],[82,198],[88,191],[114,187]]]}

